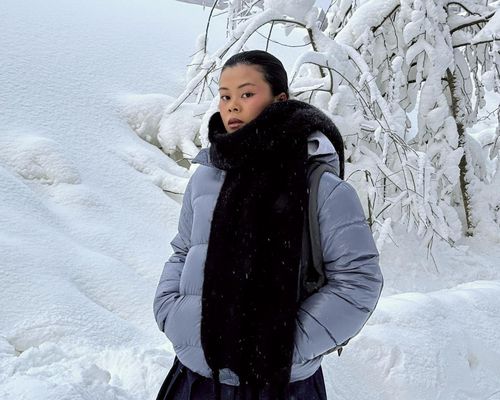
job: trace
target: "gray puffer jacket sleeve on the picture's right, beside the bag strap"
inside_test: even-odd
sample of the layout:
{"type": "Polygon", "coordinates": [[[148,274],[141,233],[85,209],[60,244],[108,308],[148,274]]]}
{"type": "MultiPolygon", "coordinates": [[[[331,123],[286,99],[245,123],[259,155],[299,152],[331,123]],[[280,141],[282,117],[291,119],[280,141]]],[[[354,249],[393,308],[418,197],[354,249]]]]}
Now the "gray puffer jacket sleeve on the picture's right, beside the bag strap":
{"type": "Polygon", "coordinates": [[[294,362],[326,354],[355,336],[377,305],[383,286],[379,253],[356,191],[330,173],[321,181],[323,187],[333,188],[323,191],[323,198],[318,193],[327,283],[300,306],[294,362]]]}

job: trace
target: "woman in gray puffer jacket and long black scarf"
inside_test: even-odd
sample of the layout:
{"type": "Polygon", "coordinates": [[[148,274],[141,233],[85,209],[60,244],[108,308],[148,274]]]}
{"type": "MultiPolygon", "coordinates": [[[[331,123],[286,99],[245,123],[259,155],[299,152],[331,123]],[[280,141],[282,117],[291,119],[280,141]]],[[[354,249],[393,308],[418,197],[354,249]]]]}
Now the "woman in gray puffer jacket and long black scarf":
{"type": "Polygon", "coordinates": [[[176,352],[158,398],[326,399],[322,358],[359,332],[383,284],[342,180],[342,139],[319,109],[288,99],[286,71],[267,52],[231,57],[219,92],[154,300],[176,352]],[[337,174],[318,188],[326,284],[300,302],[310,157],[337,174]]]}

